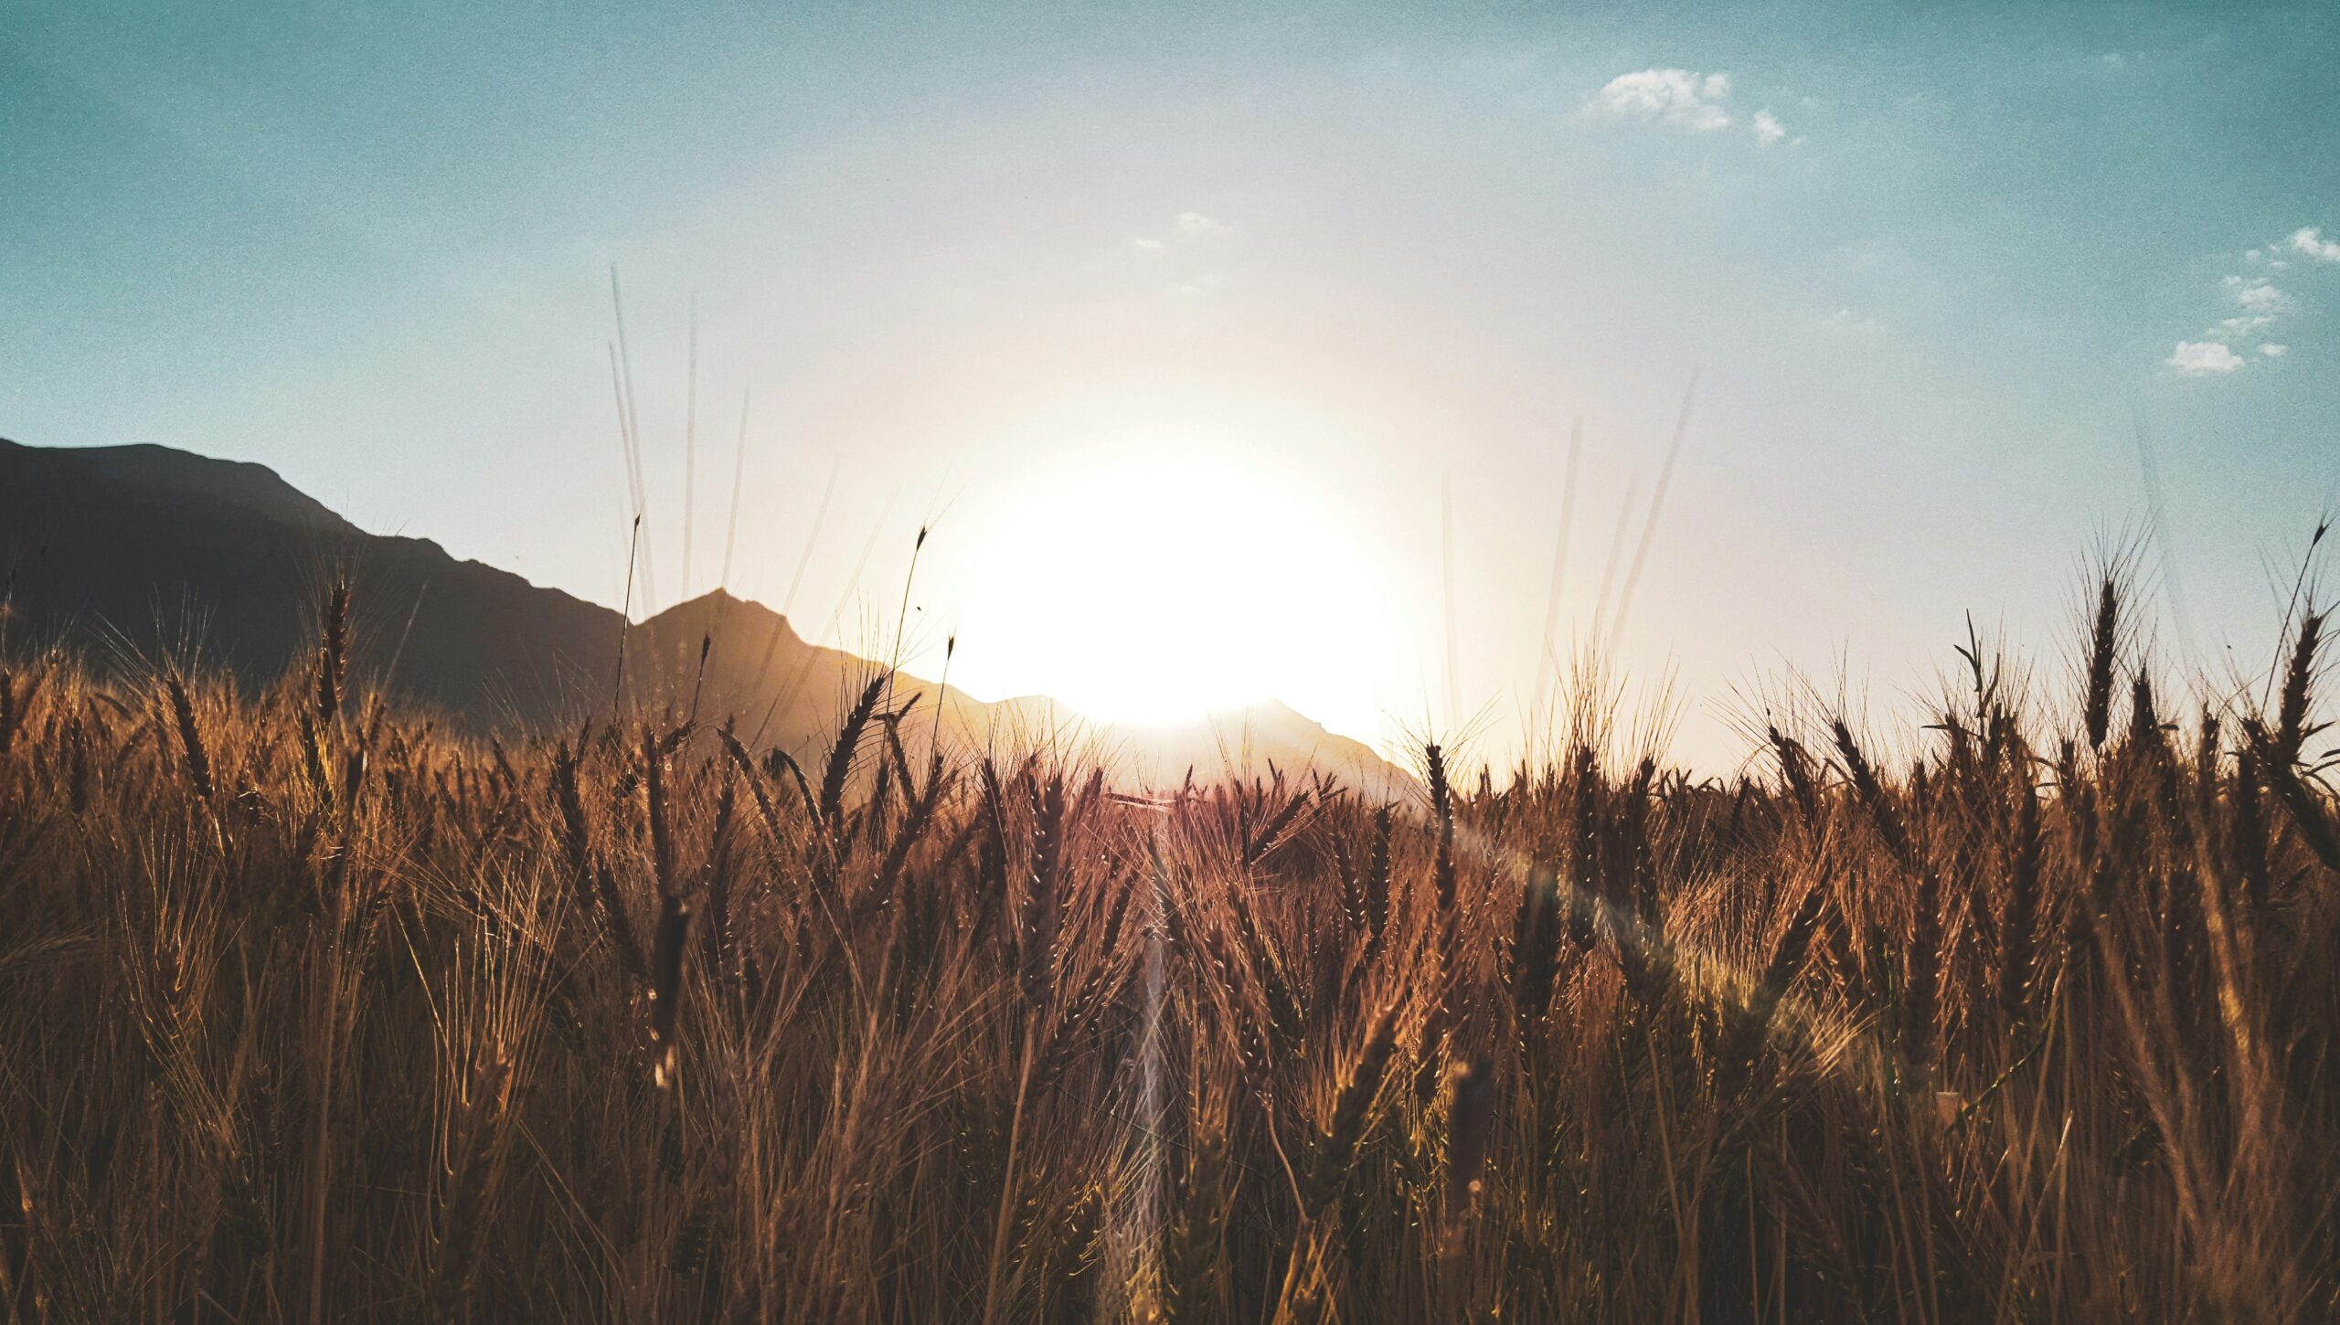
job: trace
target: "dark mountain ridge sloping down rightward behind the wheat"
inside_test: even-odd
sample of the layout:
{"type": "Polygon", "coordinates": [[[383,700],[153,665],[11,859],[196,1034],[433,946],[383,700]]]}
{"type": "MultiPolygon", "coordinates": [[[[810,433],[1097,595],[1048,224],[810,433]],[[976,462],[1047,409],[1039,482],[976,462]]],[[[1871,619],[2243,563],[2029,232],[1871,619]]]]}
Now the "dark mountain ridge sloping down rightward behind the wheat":
{"type": "MultiPolygon", "coordinates": [[[[300,667],[325,585],[353,588],[360,679],[461,726],[529,733],[632,712],[732,719],[758,747],[807,754],[880,667],[796,634],[763,604],[709,592],[632,627],[599,604],[461,562],[428,538],[367,534],[257,464],[168,447],[0,440],[0,646],[96,632],[157,658],[197,651],[248,686],[300,667]],[[704,651],[704,663],[702,663],[704,651]]],[[[976,747],[1051,742],[1175,784],[1189,768],[1322,770],[1395,794],[1411,780],[1285,705],[1165,726],[1095,723],[1041,695],[983,702],[899,674],[908,730],[941,721],[976,747]]]]}

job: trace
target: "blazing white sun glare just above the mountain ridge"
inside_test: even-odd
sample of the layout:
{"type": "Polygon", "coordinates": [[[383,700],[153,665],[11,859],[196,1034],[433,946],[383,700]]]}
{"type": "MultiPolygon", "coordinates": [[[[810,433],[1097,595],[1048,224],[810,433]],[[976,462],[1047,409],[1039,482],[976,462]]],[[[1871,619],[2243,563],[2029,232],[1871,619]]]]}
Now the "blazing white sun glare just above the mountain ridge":
{"type": "Polygon", "coordinates": [[[1395,679],[1371,543],[1306,485],[1161,442],[1013,492],[971,552],[971,688],[1123,723],[1278,698],[1371,740],[1395,679]]]}

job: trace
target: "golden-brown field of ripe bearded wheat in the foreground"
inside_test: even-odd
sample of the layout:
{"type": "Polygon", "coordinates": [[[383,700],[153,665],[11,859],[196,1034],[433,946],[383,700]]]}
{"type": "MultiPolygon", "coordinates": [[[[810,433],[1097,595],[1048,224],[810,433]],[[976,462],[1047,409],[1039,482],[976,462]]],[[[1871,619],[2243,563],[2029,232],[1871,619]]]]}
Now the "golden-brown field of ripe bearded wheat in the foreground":
{"type": "Polygon", "coordinates": [[[2129,597],[1905,730],[1689,777],[1584,684],[1399,803],[885,674],[821,758],[489,742],[339,590],[260,693],[16,655],[5,1316],[2331,1318],[2324,623],[2211,691],[2129,597]]]}

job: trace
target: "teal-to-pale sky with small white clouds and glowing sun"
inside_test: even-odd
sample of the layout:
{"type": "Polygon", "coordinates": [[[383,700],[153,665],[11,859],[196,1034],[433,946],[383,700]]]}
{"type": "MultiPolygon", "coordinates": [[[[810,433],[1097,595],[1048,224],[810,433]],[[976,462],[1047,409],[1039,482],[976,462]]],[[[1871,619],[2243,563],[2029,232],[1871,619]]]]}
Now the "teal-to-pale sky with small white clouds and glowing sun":
{"type": "Polygon", "coordinates": [[[1968,613],[2055,684],[2146,527],[2155,655],[2272,655],[2340,501],[2333,105],[2331,5],[35,0],[0,435],[1385,749],[1507,758],[1556,602],[1729,768],[1968,613]]]}

